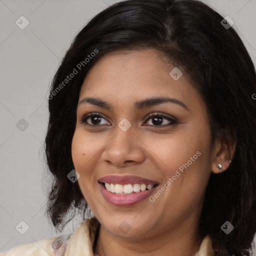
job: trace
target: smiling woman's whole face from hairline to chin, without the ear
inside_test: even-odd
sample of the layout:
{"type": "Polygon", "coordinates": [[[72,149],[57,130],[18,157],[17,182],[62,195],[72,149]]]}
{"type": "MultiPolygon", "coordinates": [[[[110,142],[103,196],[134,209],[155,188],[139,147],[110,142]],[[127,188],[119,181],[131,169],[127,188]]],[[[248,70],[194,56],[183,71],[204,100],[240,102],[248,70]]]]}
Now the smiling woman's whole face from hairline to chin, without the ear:
{"type": "Polygon", "coordinates": [[[205,103],[159,56],[153,49],[109,52],[79,94],[72,140],[78,184],[102,228],[116,236],[196,228],[211,172],[205,103]]]}

